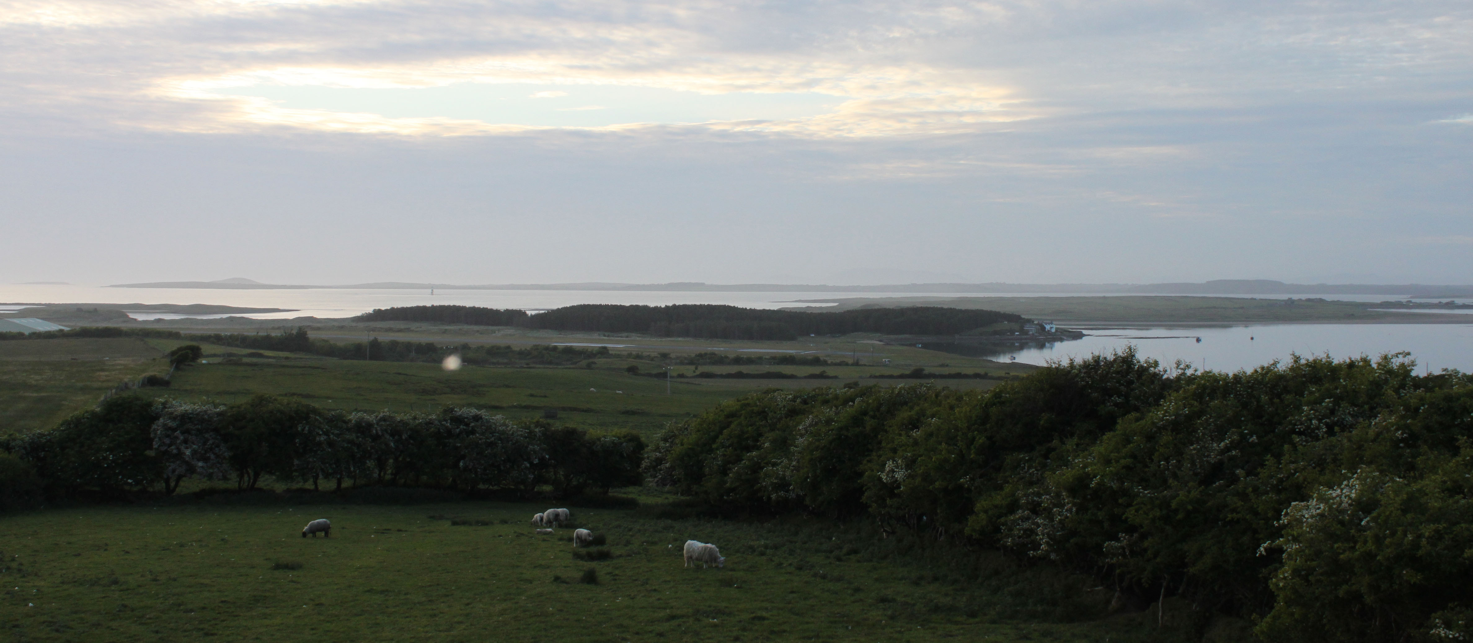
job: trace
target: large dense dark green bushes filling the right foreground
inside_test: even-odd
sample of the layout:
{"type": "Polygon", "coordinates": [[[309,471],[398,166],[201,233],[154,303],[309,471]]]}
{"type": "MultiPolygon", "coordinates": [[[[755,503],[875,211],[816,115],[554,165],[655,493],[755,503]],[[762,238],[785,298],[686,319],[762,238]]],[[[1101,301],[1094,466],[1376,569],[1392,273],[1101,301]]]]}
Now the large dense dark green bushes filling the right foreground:
{"type": "Polygon", "coordinates": [[[764,391],[672,424],[653,481],[866,516],[1099,575],[1273,642],[1473,636],[1473,378],[1386,356],[1165,371],[1134,352],[990,391],[764,391]]]}

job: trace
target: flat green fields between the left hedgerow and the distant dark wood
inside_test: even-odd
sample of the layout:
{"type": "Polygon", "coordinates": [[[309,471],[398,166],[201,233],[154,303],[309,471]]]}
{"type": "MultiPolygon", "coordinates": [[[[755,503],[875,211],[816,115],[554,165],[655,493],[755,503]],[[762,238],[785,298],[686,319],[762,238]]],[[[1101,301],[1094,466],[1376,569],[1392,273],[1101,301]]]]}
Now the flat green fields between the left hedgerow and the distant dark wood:
{"type": "MultiPolygon", "coordinates": [[[[440,344],[482,340],[476,330],[443,333],[440,344]]],[[[412,331],[383,333],[393,338],[412,331]]],[[[423,335],[423,330],[420,331],[423,335]]],[[[548,338],[541,338],[548,340],[548,338]]],[[[563,337],[563,340],[569,340],[563,337]]],[[[588,341],[589,338],[583,338],[588,341]]],[[[592,338],[592,340],[597,340],[592,338]]],[[[346,341],[339,338],[339,341],[346,341]]],[[[641,340],[647,341],[647,340],[641,340]]],[[[174,374],[168,388],[146,388],[144,394],[169,396],[184,400],[240,402],[256,393],[300,399],[317,406],[348,411],[435,411],[440,406],[474,405],[508,418],[541,418],[544,409],[557,409],[558,422],[585,428],[629,428],[641,433],[658,430],[670,419],[685,418],[717,402],[754,390],[807,388],[841,386],[844,383],[873,383],[871,374],[906,372],[925,365],[938,372],[991,372],[996,375],[1031,371],[1027,365],[1003,365],[982,359],[878,344],[857,344],[816,338],[815,344],[848,346],[871,353],[873,365],[860,359],[860,366],[676,366],[686,378],[630,375],[626,368],[663,372],[657,355],[647,359],[626,359],[619,353],[600,358],[586,366],[465,366],[448,372],[437,363],[365,362],[264,352],[262,358],[246,358],[245,349],[203,344],[205,362],[189,365],[174,374]],[[228,362],[227,356],[228,358],[228,362]],[[882,366],[879,359],[893,359],[882,366]],[[943,366],[944,365],[944,366],[943,366]],[[704,380],[698,371],[763,372],[781,371],[806,375],[825,371],[838,380],[704,380]],[[669,394],[666,390],[669,388],[669,394]]],[[[65,338],[0,341],[0,434],[46,428],[66,415],[85,409],[108,390],[122,381],[144,374],[165,374],[162,358],[169,349],[191,343],[159,338],[65,338]]],[[[675,344],[675,341],[669,341],[675,344]]],[[[689,343],[689,341],[686,341],[689,343]]],[[[787,349],[809,343],[726,343],[736,349],[787,349]]],[[[654,343],[654,346],[661,346],[654,343]]],[[[722,346],[720,343],[711,346],[722,346]]],[[[832,350],[832,349],[831,349],[832,350]]],[[[669,349],[670,353],[682,353],[669,349]]],[[[685,350],[683,353],[691,353],[685,350]]],[[[860,353],[863,355],[863,353],[860,353]]],[[[828,355],[831,360],[841,356],[828,355]]],[[[884,386],[918,380],[881,380],[884,386]]],[[[956,388],[987,388],[999,380],[941,380],[956,388]]]]}

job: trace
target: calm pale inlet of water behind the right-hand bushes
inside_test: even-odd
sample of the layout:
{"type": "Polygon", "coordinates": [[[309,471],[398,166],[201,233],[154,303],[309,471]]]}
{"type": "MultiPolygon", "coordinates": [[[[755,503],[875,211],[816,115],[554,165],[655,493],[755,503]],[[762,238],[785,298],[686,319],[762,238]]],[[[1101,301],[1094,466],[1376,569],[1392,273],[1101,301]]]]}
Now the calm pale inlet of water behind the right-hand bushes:
{"type": "Polygon", "coordinates": [[[1283,324],[1231,328],[1094,330],[1083,340],[1013,346],[925,344],[931,350],[1000,362],[1049,360],[1109,353],[1127,344],[1164,365],[1177,360],[1212,371],[1252,369],[1292,355],[1335,359],[1408,352],[1430,371],[1473,372],[1473,324],[1283,324]],[[1198,337],[1202,341],[1198,341],[1198,337]]]}

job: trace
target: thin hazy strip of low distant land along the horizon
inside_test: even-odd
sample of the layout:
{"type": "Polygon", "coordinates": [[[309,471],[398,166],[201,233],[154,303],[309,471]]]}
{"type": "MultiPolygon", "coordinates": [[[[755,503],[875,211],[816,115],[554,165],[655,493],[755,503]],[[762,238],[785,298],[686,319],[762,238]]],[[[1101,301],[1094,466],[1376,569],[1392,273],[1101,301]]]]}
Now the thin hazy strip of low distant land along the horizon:
{"type": "Polygon", "coordinates": [[[1274,280],[1214,280],[1205,283],[1171,284],[878,284],[878,285],[826,285],[826,284],[706,284],[679,281],[670,284],[614,284],[588,281],[577,284],[421,284],[405,281],[377,281],[371,284],[342,285],[298,285],[262,284],[245,277],[218,281],[153,281],[147,284],[115,284],[109,288],[227,288],[227,290],[283,290],[283,288],[384,288],[384,290],[604,290],[604,291],[688,291],[688,293],[997,293],[997,294],[1380,294],[1392,297],[1438,299],[1473,297],[1473,285],[1427,285],[1427,284],[1286,284],[1274,280]]]}

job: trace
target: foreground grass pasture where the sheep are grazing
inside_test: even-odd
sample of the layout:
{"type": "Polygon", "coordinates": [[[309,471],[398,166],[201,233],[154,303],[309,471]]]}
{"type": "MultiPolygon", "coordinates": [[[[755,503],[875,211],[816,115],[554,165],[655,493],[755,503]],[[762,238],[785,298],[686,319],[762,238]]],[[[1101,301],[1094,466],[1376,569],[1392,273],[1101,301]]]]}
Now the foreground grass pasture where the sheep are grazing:
{"type": "Polygon", "coordinates": [[[1111,592],[1094,583],[987,553],[946,561],[818,519],[573,508],[608,540],[611,558],[586,562],[570,530],[533,534],[541,509],[194,500],[6,516],[0,622],[18,642],[1178,640],[1152,611],[1096,619],[1111,592]],[[314,518],[331,539],[299,536],[314,518]],[[726,566],[683,568],[686,539],[722,546],[726,566]]]}

